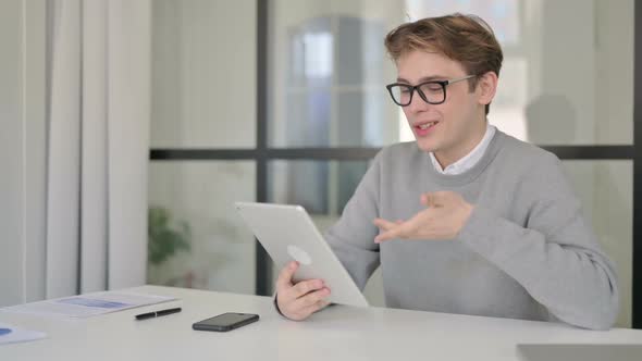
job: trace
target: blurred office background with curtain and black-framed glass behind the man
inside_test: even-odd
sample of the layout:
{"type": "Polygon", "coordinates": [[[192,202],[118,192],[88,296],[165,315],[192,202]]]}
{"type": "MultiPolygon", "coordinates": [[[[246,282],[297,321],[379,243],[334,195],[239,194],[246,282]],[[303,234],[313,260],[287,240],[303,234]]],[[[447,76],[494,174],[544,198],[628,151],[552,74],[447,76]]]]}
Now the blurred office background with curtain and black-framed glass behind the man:
{"type": "MultiPolygon", "coordinates": [[[[642,327],[633,0],[3,0],[0,306],[143,283],[271,295],[232,203],[301,204],[328,229],[376,150],[412,140],[383,37],[452,12],[495,30],[489,121],[563,159],[617,265],[617,325],[642,327]]],[[[366,295],[384,304],[379,272],[366,295]]]]}

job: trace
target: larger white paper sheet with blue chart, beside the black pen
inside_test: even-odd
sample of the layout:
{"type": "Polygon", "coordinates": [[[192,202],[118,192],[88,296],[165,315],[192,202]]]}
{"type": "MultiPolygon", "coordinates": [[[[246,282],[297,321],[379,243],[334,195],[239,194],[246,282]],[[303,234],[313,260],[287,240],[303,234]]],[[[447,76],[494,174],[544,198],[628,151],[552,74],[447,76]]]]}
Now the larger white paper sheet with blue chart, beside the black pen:
{"type": "Polygon", "coordinates": [[[174,300],[176,300],[174,297],[107,291],[12,306],[0,311],[88,318],[174,300]]]}

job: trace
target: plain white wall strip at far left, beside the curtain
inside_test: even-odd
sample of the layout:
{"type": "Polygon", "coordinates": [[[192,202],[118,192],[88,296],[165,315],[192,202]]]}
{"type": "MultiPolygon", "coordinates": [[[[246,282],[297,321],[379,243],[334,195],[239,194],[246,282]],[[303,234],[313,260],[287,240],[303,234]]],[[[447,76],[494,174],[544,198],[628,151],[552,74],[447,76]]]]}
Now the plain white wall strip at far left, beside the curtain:
{"type": "Polygon", "coordinates": [[[0,1],[0,307],[44,297],[45,5],[0,1]]]}

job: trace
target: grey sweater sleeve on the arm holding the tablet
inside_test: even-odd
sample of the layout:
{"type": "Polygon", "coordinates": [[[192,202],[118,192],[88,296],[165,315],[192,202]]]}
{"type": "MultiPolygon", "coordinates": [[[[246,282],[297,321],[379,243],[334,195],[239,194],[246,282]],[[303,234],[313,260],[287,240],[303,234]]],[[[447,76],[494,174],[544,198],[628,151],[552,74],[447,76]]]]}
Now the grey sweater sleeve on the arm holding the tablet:
{"type": "Polygon", "coordinates": [[[372,221],[379,216],[381,158],[384,151],[374,158],[341,219],[325,234],[328,244],[361,290],[380,264],[379,245],[373,241],[378,228],[372,221]]]}

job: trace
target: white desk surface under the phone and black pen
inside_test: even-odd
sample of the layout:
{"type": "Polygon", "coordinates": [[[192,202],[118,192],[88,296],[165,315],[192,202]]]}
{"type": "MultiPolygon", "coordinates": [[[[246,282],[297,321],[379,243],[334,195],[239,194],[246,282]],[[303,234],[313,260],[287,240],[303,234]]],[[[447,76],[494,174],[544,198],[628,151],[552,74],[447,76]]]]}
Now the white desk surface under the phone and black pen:
{"type": "Polygon", "coordinates": [[[145,286],[181,301],[85,320],[0,312],[0,322],[49,338],[0,346],[0,360],[516,360],[520,343],[642,344],[642,331],[593,332],[561,324],[391,309],[331,307],[306,322],[281,318],[268,297],[145,286]],[[181,313],[134,315],[181,306],[181,313]],[[261,320],[230,333],[192,324],[223,312],[261,320]]]}

